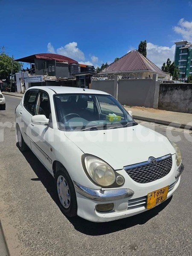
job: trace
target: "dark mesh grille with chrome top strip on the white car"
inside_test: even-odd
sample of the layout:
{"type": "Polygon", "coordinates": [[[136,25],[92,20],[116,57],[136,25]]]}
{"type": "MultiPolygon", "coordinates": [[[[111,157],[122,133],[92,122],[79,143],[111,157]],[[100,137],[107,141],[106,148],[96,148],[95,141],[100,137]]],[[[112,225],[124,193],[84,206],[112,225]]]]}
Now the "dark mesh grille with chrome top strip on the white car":
{"type": "Polygon", "coordinates": [[[156,159],[157,163],[151,165],[149,161],[125,166],[127,174],[138,183],[148,183],[165,177],[172,169],[172,155],[156,159]]]}

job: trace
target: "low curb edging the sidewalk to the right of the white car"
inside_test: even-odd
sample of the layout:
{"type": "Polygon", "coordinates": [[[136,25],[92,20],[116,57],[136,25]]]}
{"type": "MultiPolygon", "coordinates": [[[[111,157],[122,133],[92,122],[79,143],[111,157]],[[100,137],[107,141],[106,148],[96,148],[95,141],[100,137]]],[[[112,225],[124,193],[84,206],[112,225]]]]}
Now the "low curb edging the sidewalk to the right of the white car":
{"type": "Polygon", "coordinates": [[[184,125],[184,124],[180,124],[180,123],[163,121],[163,120],[159,120],[159,119],[152,119],[152,118],[141,117],[141,116],[133,116],[133,118],[141,120],[141,121],[145,121],[145,122],[154,122],[154,123],[160,124],[160,125],[167,125],[167,126],[169,125],[169,126],[172,126],[175,128],[181,128],[181,129],[192,131],[192,126],[190,126],[190,125],[184,125]]]}

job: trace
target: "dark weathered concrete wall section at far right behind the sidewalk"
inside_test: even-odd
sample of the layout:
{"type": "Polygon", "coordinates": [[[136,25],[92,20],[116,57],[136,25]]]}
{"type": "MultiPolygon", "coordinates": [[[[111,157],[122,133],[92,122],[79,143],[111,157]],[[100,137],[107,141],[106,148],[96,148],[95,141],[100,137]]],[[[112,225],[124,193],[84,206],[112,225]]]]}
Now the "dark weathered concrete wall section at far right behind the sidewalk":
{"type": "Polygon", "coordinates": [[[158,108],[192,113],[192,84],[160,84],[158,108]]]}

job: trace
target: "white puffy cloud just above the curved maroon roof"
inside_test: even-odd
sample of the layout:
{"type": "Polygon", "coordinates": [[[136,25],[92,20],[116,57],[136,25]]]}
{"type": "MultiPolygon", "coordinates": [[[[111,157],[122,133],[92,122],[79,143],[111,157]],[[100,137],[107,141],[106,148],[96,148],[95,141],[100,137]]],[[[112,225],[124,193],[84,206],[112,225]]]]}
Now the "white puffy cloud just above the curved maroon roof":
{"type": "Polygon", "coordinates": [[[85,59],[84,53],[79,48],[77,48],[76,42],[72,42],[72,43],[66,44],[65,46],[61,46],[60,48],[56,49],[56,51],[52,46],[52,44],[49,43],[47,45],[47,50],[50,53],[56,52],[57,54],[67,56],[69,58],[73,58],[77,61],[80,61],[80,60],[84,61],[85,59]]]}

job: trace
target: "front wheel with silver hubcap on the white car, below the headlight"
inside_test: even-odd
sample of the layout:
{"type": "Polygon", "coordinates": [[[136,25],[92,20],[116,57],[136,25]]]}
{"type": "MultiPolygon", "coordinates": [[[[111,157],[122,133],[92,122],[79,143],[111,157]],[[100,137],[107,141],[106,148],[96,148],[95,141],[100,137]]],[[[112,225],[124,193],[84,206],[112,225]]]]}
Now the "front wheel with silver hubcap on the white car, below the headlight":
{"type": "Polygon", "coordinates": [[[55,174],[55,192],[61,212],[67,217],[75,217],[77,215],[76,191],[64,167],[60,167],[55,174]]]}

